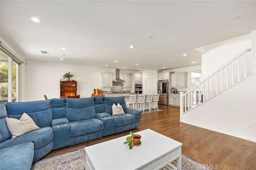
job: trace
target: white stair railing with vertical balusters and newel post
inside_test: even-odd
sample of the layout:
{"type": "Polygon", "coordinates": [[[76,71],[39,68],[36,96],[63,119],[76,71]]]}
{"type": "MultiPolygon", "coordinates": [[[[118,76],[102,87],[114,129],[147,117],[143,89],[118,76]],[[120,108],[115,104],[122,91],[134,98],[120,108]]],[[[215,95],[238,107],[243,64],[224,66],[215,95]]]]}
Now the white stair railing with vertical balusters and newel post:
{"type": "Polygon", "coordinates": [[[182,114],[209,100],[215,95],[251,75],[251,49],[246,49],[201,83],[187,91],[180,92],[180,121],[182,114]]]}

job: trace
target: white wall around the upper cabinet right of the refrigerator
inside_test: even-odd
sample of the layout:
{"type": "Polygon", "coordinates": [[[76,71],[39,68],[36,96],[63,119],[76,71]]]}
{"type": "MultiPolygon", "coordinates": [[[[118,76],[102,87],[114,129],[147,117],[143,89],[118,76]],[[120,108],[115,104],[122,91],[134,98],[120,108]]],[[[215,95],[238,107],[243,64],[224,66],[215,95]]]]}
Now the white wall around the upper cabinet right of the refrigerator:
{"type": "MultiPolygon", "coordinates": [[[[202,67],[201,65],[195,65],[195,66],[191,66],[191,67],[170,69],[170,70],[166,70],[166,71],[171,71],[171,72],[174,72],[174,73],[187,72],[187,87],[186,88],[178,87],[178,88],[175,88],[175,89],[177,89],[177,91],[188,91],[188,90],[191,89],[191,83],[190,83],[190,81],[191,81],[191,72],[201,70],[201,67],[202,67]]],[[[170,82],[169,82],[169,85],[170,85],[170,82]]]]}

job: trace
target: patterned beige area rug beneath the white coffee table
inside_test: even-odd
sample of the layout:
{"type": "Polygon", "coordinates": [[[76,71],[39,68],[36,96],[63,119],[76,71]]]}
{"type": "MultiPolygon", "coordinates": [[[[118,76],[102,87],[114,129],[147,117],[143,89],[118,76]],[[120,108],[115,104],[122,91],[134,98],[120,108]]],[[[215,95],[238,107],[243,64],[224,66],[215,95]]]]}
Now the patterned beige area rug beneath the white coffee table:
{"type": "MultiPolygon", "coordinates": [[[[85,170],[84,148],[40,160],[32,165],[31,170],[85,170]]],[[[173,170],[177,165],[174,160],[162,170],[173,170]]],[[[211,170],[200,162],[182,154],[182,170],[211,170]]]]}

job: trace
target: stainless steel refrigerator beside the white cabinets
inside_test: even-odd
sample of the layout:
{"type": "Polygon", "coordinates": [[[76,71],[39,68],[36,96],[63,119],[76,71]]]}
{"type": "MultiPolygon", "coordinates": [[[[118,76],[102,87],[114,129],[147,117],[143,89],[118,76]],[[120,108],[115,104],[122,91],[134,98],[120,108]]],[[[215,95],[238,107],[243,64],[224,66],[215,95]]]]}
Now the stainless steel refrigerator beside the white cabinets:
{"type": "Polygon", "coordinates": [[[168,105],[168,81],[158,81],[158,93],[159,101],[158,104],[168,105]]]}

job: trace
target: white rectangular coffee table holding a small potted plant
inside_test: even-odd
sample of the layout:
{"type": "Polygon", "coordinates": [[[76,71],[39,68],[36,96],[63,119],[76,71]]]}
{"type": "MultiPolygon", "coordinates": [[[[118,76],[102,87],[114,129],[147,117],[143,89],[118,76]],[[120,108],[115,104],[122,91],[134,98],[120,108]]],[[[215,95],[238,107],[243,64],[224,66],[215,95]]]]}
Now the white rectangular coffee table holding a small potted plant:
{"type": "Polygon", "coordinates": [[[140,146],[129,149],[126,136],[85,147],[86,170],[156,170],[177,159],[181,170],[181,146],[151,129],[136,132],[142,136],[140,146]]]}

